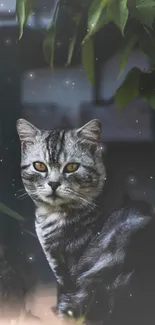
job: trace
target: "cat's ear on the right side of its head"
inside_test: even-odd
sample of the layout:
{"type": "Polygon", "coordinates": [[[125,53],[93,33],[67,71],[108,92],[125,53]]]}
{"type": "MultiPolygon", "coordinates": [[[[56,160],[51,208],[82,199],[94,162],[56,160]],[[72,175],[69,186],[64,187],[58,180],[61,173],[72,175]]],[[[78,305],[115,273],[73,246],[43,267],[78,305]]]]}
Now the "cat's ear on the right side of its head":
{"type": "Polygon", "coordinates": [[[94,119],[87,124],[83,125],[77,130],[77,134],[84,140],[99,143],[101,140],[101,123],[99,120],[94,119]]]}

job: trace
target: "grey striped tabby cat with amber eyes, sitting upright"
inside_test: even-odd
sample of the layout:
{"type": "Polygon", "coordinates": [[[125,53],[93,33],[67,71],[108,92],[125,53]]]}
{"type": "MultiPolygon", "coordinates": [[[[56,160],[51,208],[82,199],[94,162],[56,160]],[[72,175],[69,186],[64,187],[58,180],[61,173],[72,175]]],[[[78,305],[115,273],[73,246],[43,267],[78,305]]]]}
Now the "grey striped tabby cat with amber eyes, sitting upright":
{"type": "Polygon", "coordinates": [[[57,313],[89,319],[100,292],[110,297],[107,309],[112,308],[112,293],[129,282],[132,270],[122,271],[126,247],[150,217],[122,208],[105,221],[99,204],[106,182],[99,120],[46,131],[19,119],[17,132],[36,233],[58,284],[57,313]]]}

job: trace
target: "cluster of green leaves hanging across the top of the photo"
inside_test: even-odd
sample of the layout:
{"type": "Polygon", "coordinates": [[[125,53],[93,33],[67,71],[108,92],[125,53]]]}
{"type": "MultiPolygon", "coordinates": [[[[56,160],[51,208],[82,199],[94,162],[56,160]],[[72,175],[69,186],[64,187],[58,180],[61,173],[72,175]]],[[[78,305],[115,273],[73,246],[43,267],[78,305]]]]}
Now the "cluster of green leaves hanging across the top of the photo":
{"type": "MultiPolygon", "coordinates": [[[[33,9],[33,0],[16,0],[16,3],[20,39],[33,9]]],[[[150,71],[129,71],[116,91],[117,106],[121,109],[135,97],[141,96],[155,108],[155,0],[58,0],[43,42],[44,56],[52,69],[58,17],[62,8],[66,9],[68,19],[74,23],[66,65],[72,62],[77,36],[81,33],[81,22],[85,21],[87,29],[82,27],[81,60],[88,80],[92,84],[95,83],[94,36],[105,25],[113,23],[122,35],[119,77],[123,74],[130,53],[135,47],[145,53],[152,66],[150,71]],[[150,87],[146,85],[148,81],[150,87]]]]}

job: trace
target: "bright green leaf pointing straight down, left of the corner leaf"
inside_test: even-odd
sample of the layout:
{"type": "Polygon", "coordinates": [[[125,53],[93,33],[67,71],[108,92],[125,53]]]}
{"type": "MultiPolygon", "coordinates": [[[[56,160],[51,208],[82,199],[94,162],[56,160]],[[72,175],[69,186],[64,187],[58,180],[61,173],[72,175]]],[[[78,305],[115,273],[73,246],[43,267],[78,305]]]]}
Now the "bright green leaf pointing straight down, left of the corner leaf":
{"type": "Polygon", "coordinates": [[[128,20],[129,10],[127,7],[127,0],[109,0],[108,14],[111,20],[124,34],[124,29],[128,20]]]}

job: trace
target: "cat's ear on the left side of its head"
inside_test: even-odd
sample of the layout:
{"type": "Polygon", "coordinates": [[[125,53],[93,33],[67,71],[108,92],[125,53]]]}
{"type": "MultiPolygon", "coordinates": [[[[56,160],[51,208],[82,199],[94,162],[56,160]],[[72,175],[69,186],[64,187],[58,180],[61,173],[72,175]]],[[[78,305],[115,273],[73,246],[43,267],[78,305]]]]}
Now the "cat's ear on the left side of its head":
{"type": "Polygon", "coordinates": [[[21,143],[33,142],[36,135],[40,132],[33,124],[22,118],[17,120],[16,128],[21,143]]]}

